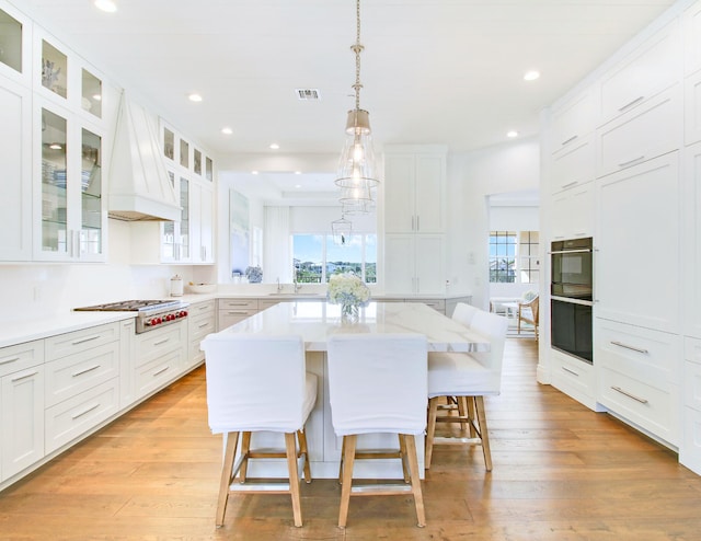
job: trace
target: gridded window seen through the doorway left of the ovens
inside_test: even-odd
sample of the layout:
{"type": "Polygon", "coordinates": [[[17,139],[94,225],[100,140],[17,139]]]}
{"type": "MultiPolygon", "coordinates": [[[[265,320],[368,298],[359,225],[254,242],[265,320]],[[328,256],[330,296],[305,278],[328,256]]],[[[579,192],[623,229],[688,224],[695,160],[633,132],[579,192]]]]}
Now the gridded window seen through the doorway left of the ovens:
{"type": "Polygon", "coordinates": [[[537,284],[540,274],[538,231],[490,233],[490,281],[537,284]]]}

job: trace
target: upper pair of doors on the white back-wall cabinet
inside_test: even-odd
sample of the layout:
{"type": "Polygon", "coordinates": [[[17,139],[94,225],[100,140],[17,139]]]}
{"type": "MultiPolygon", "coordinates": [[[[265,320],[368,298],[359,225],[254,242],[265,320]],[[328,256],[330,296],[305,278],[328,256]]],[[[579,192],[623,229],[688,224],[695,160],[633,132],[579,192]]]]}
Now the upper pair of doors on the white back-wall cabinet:
{"type": "Polygon", "coordinates": [[[445,191],[445,152],[386,152],[386,232],[444,232],[445,191]]]}

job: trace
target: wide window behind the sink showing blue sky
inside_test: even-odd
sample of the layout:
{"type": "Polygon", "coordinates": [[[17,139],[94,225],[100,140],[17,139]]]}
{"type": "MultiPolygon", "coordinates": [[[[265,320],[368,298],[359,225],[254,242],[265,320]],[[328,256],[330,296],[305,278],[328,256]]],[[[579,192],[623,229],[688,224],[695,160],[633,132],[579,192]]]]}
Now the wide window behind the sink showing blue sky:
{"type": "Polygon", "coordinates": [[[354,272],[377,283],[377,235],[350,234],[343,246],[332,234],[294,234],[295,277],[300,284],[323,284],[337,273],[354,272]]]}

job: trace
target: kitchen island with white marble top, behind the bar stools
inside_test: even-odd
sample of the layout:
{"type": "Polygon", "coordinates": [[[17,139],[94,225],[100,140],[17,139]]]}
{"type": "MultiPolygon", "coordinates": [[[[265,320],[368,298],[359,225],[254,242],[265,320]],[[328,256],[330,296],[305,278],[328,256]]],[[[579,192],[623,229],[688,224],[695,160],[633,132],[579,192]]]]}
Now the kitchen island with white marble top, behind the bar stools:
{"type": "MultiPolygon", "coordinates": [[[[341,318],[341,308],[324,301],[283,302],[263,310],[244,321],[209,335],[207,339],[226,339],[237,333],[298,334],[304,341],[307,370],[319,377],[317,405],[307,423],[307,439],[313,477],[335,479],[338,475],[341,438],[336,438],[331,422],[329,379],[326,375],[326,341],[338,333],[420,333],[428,341],[432,352],[470,352],[489,349],[489,339],[466,329],[456,321],[418,302],[371,302],[361,308],[357,321],[341,318]]],[[[235,392],[235,382],[231,383],[235,392]]],[[[255,434],[256,446],[280,447],[281,435],[255,434]],[[257,439],[256,439],[257,438],[257,439]]],[[[358,446],[386,448],[395,446],[395,436],[365,435],[358,446]]],[[[423,474],[423,438],[417,439],[418,461],[423,474]]],[[[251,474],[257,476],[287,476],[284,460],[254,461],[251,474]]],[[[356,462],[356,477],[401,477],[397,460],[356,462]]]]}

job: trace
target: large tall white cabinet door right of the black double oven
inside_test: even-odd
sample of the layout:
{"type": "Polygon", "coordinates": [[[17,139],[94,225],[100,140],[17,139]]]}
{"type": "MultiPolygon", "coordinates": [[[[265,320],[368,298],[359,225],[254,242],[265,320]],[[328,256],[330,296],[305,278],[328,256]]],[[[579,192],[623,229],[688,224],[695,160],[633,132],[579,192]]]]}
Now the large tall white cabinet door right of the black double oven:
{"type": "Polygon", "coordinates": [[[678,332],[680,252],[678,153],[597,182],[597,315],[678,332]]]}

